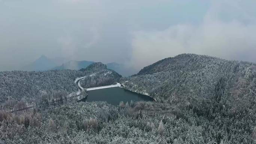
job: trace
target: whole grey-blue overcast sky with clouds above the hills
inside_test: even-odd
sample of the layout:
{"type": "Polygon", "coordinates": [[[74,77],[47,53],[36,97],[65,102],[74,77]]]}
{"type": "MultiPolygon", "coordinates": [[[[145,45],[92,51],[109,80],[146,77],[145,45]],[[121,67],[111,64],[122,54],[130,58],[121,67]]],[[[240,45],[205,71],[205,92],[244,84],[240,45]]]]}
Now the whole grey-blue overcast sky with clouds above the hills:
{"type": "Polygon", "coordinates": [[[0,70],[46,55],[140,69],[180,53],[256,62],[255,0],[0,0],[0,70]]]}

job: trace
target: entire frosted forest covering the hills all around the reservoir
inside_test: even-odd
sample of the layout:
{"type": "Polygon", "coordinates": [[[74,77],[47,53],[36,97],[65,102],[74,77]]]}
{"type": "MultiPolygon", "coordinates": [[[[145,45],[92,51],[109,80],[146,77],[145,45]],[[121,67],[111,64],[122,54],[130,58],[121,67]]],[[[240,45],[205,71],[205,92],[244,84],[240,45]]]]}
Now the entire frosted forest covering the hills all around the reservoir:
{"type": "Polygon", "coordinates": [[[131,77],[120,78],[112,71],[109,76],[81,81],[84,88],[119,82],[157,102],[114,106],[63,97],[77,91],[76,77],[104,69],[105,65],[96,63],[80,71],[1,72],[0,143],[256,143],[253,63],[182,54],[131,77]],[[61,99],[50,101],[49,95],[61,99]],[[15,111],[31,99],[42,99],[44,104],[15,111]]]}

